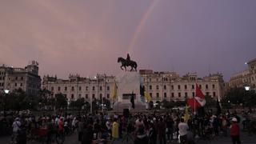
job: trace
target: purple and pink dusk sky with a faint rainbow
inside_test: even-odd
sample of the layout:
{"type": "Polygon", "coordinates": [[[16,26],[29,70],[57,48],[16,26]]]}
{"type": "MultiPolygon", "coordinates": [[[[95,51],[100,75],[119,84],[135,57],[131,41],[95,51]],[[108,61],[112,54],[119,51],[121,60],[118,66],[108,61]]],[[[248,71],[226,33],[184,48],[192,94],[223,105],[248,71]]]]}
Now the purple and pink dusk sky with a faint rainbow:
{"type": "Polygon", "coordinates": [[[0,2],[0,63],[39,62],[42,75],[138,69],[199,76],[246,70],[256,58],[255,0],[24,0],[0,2]]]}

